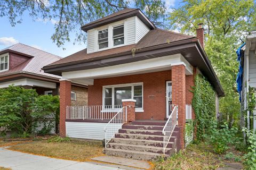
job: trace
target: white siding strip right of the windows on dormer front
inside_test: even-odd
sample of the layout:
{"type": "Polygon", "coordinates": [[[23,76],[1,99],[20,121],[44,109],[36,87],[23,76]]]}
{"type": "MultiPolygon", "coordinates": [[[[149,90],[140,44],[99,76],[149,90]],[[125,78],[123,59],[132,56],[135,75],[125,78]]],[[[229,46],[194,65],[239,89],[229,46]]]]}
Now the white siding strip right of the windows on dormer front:
{"type": "Polygon", "coordinates": [[[126,21],[126,45],[135,43],[135,16],[126,21]]]}

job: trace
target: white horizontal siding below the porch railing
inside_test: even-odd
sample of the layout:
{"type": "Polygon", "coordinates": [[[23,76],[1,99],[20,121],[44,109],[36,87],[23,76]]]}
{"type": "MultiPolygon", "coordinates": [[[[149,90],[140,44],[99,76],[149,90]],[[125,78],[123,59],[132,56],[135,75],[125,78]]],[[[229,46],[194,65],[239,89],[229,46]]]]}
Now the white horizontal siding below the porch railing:
{"type": "Polygon", "coordinates": [[[104,128],[107,123],[66,122],[66,134],[70,138],[105,139],[104,128]]]}

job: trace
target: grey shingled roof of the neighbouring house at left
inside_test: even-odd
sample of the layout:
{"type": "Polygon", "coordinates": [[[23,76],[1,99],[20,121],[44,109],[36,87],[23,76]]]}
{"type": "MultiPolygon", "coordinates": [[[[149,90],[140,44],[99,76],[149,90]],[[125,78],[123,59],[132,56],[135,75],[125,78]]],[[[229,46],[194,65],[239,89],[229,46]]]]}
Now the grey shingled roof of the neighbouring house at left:
{"type": "Polygon", "coordinates": [[[41,69],[43,66],[51,64],[53,62],[59,61],[61,57],[44,52],[43,50],[30,47],[25,44],[14,44],[13,46],[7,47],[0,50],[0,55],[5,53],[15,53],[22,56],[27,56],[29,59],[18,66],[15,66],[13,69],[0,72],[0,77],[5,77],[7,75],[18,74],[18,73],[27,73],[27,74],[36,74],[42,75],[43,77],[58,78],[61,77],[54,74],[44,73],[41,69]]]}

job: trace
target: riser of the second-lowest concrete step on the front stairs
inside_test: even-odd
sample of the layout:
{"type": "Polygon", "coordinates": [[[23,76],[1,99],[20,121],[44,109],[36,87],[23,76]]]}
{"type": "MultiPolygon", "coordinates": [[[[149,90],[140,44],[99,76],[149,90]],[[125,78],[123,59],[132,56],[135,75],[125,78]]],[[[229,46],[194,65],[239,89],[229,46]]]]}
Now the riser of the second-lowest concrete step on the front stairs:
{"type": "MultiPolygon", "coordinates": [[[[122,149],[122,150],[134,150],[134,151],[140,151],[140,152],[151,152],[151,153],[156,153],[156,154],[163,154],[163,148],[161,149],[155,149],[155,148],[143,148],[140,146],[134,147],[134,146],[122,146],[122,145],[115,145],[115,144],[109,144],[107,145],[107,148],[112,148],[112,149],[122,149]]],[[[171,149],[166,149],[165,154],[169,154],[171,149]]]]}

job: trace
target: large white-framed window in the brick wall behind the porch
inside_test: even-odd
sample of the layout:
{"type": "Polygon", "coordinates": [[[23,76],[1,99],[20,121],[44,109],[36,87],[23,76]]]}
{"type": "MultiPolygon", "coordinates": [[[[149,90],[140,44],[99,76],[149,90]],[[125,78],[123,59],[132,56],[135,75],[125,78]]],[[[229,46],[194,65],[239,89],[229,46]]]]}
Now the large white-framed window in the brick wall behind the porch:
{"type": "Polygon", "coordinates": [[[135,99],[136,112],[143,112],[143,84],[117,84],[103,87],[103,105],[118,108],[122,99],[135,99]]]}

